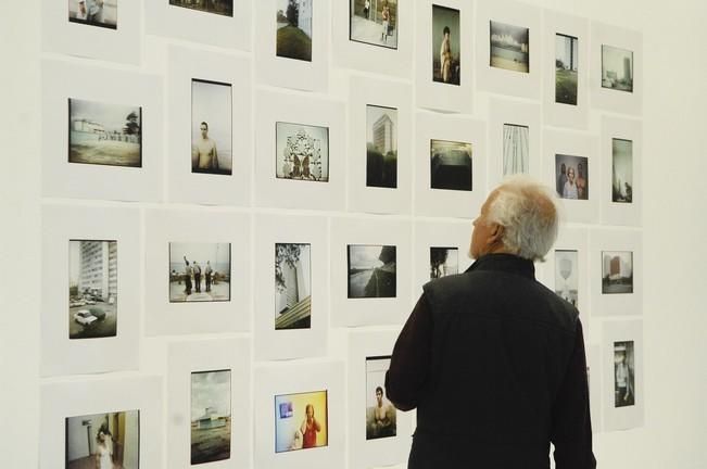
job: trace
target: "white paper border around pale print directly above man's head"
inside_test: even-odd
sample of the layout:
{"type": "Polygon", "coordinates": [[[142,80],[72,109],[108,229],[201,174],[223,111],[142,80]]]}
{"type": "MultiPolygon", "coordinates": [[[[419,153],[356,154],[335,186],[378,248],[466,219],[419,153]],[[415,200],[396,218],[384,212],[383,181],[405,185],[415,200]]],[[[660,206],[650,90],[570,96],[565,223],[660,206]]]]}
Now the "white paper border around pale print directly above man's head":
{"type": "Polygon", "coordinates": [[[540,157],[540,105],[519,101],[492,98],[489,102],[489,187],[496,187],[503,175],[503,126],[504,124],[528,127],[529,175],[542,176],[540,157]]]}

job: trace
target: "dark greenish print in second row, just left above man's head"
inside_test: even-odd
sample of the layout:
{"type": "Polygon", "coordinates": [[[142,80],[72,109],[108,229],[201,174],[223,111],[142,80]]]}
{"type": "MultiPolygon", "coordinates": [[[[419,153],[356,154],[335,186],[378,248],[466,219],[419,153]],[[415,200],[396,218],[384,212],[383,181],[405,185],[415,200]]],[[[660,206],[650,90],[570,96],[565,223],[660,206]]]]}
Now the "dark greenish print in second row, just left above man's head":
{"type": "Polygon", "coordinates": [[[432,189],[471,190],[471,143],[430,140],[432,189]]]}

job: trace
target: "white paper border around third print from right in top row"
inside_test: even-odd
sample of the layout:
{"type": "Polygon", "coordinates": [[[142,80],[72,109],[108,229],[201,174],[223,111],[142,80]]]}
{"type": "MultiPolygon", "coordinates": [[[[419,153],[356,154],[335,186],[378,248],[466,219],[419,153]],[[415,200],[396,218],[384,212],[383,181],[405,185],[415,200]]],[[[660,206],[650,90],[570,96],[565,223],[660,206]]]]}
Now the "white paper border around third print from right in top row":
{"type": "Polygon", "coordinates": [[[479,89],[528,99],[540,97],[540,74],[543,63],[543,40],[540,28],[540,12],[536,7],[512,0],[479,2],[477,9],[477,86],[479,89]],[[530,63],[528,73],[492,67],[490,22],[505,23],[530,29],[530,63]]]}

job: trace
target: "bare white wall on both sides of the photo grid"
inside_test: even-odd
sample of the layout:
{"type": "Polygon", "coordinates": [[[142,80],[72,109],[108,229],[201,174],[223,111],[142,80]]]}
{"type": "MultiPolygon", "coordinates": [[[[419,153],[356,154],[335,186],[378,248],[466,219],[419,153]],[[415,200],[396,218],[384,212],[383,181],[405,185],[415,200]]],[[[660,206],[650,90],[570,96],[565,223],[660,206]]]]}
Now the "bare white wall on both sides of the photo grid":
{"type": "MultiPolygon", "coordinates": [[[[146,0],[154,1],[154,0],[146,0]]],[[[255,0],[258,1],[258,0],[255,0]]],[[[342,1],[342,0],[337,0],[342,1]]],[[[40,3],[0,5],[0,466],[37,467],[40,3]]],[[[603,469],[707,468],[707,2],[530,0],[644,37],[645,427],[601,433],[603,469]]],[[[146,69],[161,69],[160,40],[146,69]]],[[[164,54],[162,54],[164,55],[164,54]]],[[[592,122],[598,132],[598,122],[592,122]]],[[[601,328],[590,321],[590,334],[601,328]]],[[[143,370],[164,355],[142,339],[143,370]]],[[[153,435],[163,438],[163,435],[153,435]]]]}

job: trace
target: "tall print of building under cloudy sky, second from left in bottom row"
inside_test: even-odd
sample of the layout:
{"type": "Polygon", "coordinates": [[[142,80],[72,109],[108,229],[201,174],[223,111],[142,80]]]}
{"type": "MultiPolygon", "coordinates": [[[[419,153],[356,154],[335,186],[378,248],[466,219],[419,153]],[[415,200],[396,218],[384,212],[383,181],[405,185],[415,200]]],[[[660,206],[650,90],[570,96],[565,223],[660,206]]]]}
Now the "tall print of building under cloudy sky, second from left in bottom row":
{"type": "Polygon", "coordinates": [[[191,464],[230,458],[230,370],[191,373],[191,464]]]}

